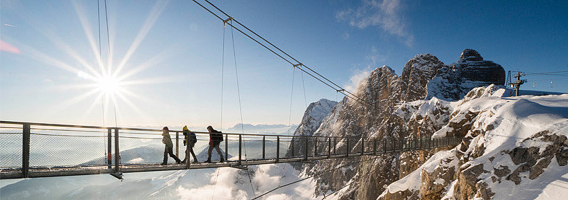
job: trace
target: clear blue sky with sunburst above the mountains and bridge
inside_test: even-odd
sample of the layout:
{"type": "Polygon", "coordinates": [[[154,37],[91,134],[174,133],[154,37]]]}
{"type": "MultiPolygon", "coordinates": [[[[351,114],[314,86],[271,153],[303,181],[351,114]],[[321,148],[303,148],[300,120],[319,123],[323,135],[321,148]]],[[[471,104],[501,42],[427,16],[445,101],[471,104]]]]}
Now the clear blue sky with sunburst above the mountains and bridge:
{"type": "MultiPolygon", "coordinates": [[[[1,119],[102,125],[97,82],[86,78],[93,74],[88,67],[101,72],[97,1],[0,2],[1,119]]],[[[212,2],[346,87],[382,65],[400,75],[407,60],[420,53],[456,62],[464,48],[476,49],[505,71],[568,70],[567,1],[212,2]]],[[[110,40],[100,4],[101,63],[109,66],[112,55],[113,71],[122,63],[117,76],[129,76],[120,87],[123,98],[114,95],[116,104],[104,103],[104,124],[114,125],[115,105],[119,126],[219,127],[222,22],[193,1],[107,3],[110,40]]],[[[222,126],[227,128],[241,116],[231,29],[225,31],[222,126]]],[[[234,42],[243,122],[288,124],[291,66],[239,33],[234,42]]],[[[568,91],[567,77],[527,79],[524,89],[568,91]]],[[[306,102],[341,99],[304,77],[305,101],[301,80],[296,71],[292,123],[301,120],[306,102]]]]}

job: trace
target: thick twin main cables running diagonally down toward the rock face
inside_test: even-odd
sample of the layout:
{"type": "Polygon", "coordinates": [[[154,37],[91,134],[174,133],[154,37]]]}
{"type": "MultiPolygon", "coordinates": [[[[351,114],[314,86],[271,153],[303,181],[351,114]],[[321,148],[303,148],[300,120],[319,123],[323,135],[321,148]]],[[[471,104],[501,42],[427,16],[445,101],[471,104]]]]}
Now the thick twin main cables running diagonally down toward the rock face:
{"type": "MultiPolygon", "coordinates": [[[[218,19],[220,19],[221,21],[223,21],[225,23],[225,21],[227,19],[223,19],[222,17],[220,17],[219,15],[217,15],[215,12],[211,11],[209,8],[206,8],[205,6],[202,5],[202,3],[197,2],[196,0],[192,0],[193,2],[197,3],[197,5],[201,6],[202,8],[204,8],[205,10],[207,10],[209,13],[211,13],[211,15],[214,15],[215,17],[217,17],[218,19]]],[[[245,35],[246,37],[252,39],[254,42],[256,42],[257,44],[263,46],[263,48],[266,48],[268,51],[270,51],[271,53],[277,55],[278,57],[280,57],[282,60],[288,62],[289,64],[295,66],[298,63],[304,67],[302,68],[298,68],[300,69],[300,71],[303,71],[305,73],[307,73],[308,75],[310,75],[312,78],[315,78],[316,80],[318,80],[319,82],[322,82],[323,84],[327,85],[327,87],[330,87],[332,89],[334,89],[335,91],[342,93],[344,96],[347,96],[348,98],[355,100],[356,102],[359,102],[361,104],[363,104],[364,106],[368,106],[371,105],[370,103],[364,101],[362,98],[359,98],[358,96],[355,96],[355,94],[346,91],[345,89],[343,89],[343,87],[340,87],[338,84],[336,84],[335,82],[332,82],[331,80],[329,80],[328,78],[325,78],[323,75],[321,75],[320,73],[314,71],[313,69],[309,68],[308,66],[305,66],[304,64],[302,64],[301,62],[299,62],[298,60],[296,60],[294,57],[291,57],[288,53],[282,51],[282,49],[278,48],[277,46],[275,46],[274,44],[272,44],[271,42],[268,42],[268,40],[264,39],[263,37],[261,37],[260,35],[258,35],[257,33],[255,33],[254,31],[250,30],[250,28],[244,26],[243,24],[241,24],[240,22],[238,22],[236,19],[234,19],[233,17],[227,15],[227,13],[223,12],[222,10],[220,10],[217,6],[213,5],[213,3],[205,0],[207,3],[209,3],[211,6],[213,6],[214,8],[216,8],[218,11],[222,12],[223,15],[229,17],[229,19],[231,21],[235,21],[239,26],[242,26],[243,28],[245,28],[246,30],[248,30],[250,33],[256,35],[257,37],[259,37],[259,39],[254,39],[254,37],[250,36],[248,33],[245,33],[243,30],[235,27],[233,24],[229,24],[229,26],[232,26],[234,29],[238,30],[238,32],[242,33],[243,35],[245,35]],[[263,44],[263,42],[259,41],[262,40],[263,42],[266,42],[268,44],[263,44]],[[273,48],[276,48],[276,50],[274,50],[273,48],[270,48],[268,46],[272,46],[273,48]],[[277,51],[283,53],[284,55],[277,53],[277,51]],[[286,58],[288,57],[288,58],[286,58]]],[[[295,66],[296,67],[296,66],[295,66]]]]}

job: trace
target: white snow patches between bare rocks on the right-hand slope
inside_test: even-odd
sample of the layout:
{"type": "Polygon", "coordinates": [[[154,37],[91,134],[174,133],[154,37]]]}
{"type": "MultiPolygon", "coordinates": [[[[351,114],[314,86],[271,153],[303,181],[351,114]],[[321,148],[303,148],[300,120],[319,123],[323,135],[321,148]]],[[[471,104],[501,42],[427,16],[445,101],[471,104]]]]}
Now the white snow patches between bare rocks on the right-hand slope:
{"type": "MultiPolygon", "coordinates": [[[[472,129],[469,130],[468,134],[473,134],[473,131],[482,134],[473,135],[470,145],[463,153],[469,155],[481,146],[485,147],[485,150],[482,155],[471,158],[464,165],[473,167],[483,164],[483,170],[487,172],[480,174],[478,179],[488,183],[489,189],[496,193],[492,199],[566,199],[568,167],[560,167],[555,160],[556,158],[552,159],[551,164],[544,168],[544,172],[536,179],[528,179],[529,172],[523,172],[519,174],[521,177],[519,185],[505,180],[505,177],[501,178],[501,183],[492,181],[492,173],[490,172],[493,172],[494,168],[508,167],[509,170],[513,171],[519,167],[512,162],[510,155],[503,152],[510,151],[514,147],[539,147],[542,153],[551,144],[551,142],[544,142],[539,139],[527,140],[526,138],[544,130],[558,136],[568,136],[568,94],[508,97],[508,93],[507,89],[503,87],[490,85],[489,87],[473,89],[462,100],[445,103],[454,110],[451,115],[453,122],[464,120],[464,116],[468,112],[478,113],[471,120],[472,129]],[[489,158],[492,160],[490,161],[489,158]]],[[[422,103],[418,109],[414,110],[414,115],[424,116],[428,115],[434,101],[441,100],[432,98],[428,102],[421,100],[406,104],[422,103]]],[[[445,125],[436,131],[432,137],[446,136],[452,130],[453,127],[449,124],[445,125]]],[[[459,161],[455,157],[456,149],[437,152],[419,169],[387,186],[387,190],[381,194],[381,197],[387,192],[420,190],[422,171],[431,173],[438,167],[449,167],[451,165],[456,166],[455,169],[457,170],[459,161]],[[450,162],[441,162],[442,160],[450,162]]],[[[453,190],[457,184],[456,180],[448,183],[444,179],[435,179],[434,183],[445,185],[446,192],[442,194],[444,195],[442,199],[455,199],[453,190]]]]}

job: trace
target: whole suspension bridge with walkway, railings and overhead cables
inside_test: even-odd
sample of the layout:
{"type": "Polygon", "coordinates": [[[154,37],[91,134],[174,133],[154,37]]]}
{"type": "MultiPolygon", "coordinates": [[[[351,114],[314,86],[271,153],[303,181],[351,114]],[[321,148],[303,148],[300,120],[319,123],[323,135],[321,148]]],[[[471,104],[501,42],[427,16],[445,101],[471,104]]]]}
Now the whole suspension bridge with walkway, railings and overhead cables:
{"type": "MultiPolygon", "coordinates": [[[[249,39],[252,39],[253,42],[270,51],[273,55],[291,64],[293,70],[298,69],[302,73],[302,84],[303,74],[305,73],[311,78],[318,80],[318,82],[325,84],[326,87],[343,94],[348,100],[352,100],[366,108],[373,106],[366,100],[355,96],[355,94],[340,87],[339,84],[314,71],[306,64],[302,64],[298,59],[241,24],[241,22],[220,10],[213,3],[207,0],[203,4],[195,0],[192,1],[222,21],[224,27],[222,65],[225,63],[225,26],[228,25],[231,28],[231,38],[233,40],[233,30],[237,30],[238,33],[242,33],[249,39]]],[[[106,10],[106,3],[104,5],[106,10]]],[[[234,42],[232,44],[234,45],[234,42]]],[[[101,48],[100,44],[99,48],[101,48]]],[[[233,53],[234,51],[235,48],[233,46],[233,53]]],[[[223,73],[224,67],[222,66],[221,73],[223,73]]],[[[235,71],[236,69],[235,61],[235,71]]],[[[237,73],[236,76],[241,124],[243,124],[237,73]]],[[[221,85],[223,85],[223,75],[221,75],[221,85]]],[[[221,121],[222,93],[223,89],[221,88],[221,121]]],[[[190,156],[186,155],[186,147],[179,144],[184,141],[183,131],[170,129],[169,134],[174,143],[175,155],[180,158],[186,158],[187,162],[161,165],[164,149],[161,141],[162,129],[118,127],[116,117],[115,126],[62,125],[1,120],[0,148],[3,150],[0,152],[0,179],[89,174],[111,174],[122,179],[122,173],[128,172],[193,170],[216,167],[247,169],[250,165],[271,163],[309,163],[357,156],[378,158],[378,156],[384,154],[398,154],[400,152],[453,146],[461,141],[460,138],[364,137],[369,133],[362,133],[360,137],[245,134],[243,130],[240,134],[222,133],[224,140],[220,144],[220,148],[225,152],[223,154],[225,156],[223,160],[225,161],[192,163],[190,162],[190,156]]],[[[197,136],[197,144],[194,151],[200,147],[206,148],[209,132],[192,132],[197,136]]],[[[213,151],[212,154],[216,154],[216,152],[213,151]]]]}

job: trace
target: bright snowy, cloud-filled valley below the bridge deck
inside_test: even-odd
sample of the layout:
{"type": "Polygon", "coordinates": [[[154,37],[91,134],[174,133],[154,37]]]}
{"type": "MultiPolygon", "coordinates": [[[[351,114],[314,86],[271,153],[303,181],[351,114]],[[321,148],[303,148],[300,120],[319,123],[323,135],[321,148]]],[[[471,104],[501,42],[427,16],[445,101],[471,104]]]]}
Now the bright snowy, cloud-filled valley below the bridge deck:
{"type": "MultiPolygon", "coordinates": [[[[254,193],[301,179],[288,163],[250,166],[254,193]]],[[[6,180],[1,180],[3,183],[6,180]]],[[[311,199],[313,179],[270,192],[262,199],[311,199]]],[[[21,179],[0,188],[0,199],[252,199],[246,171],[230,167],[124,174],[21,179]],[[213,190],[215,191],[213,193],[213,190]]]]}

